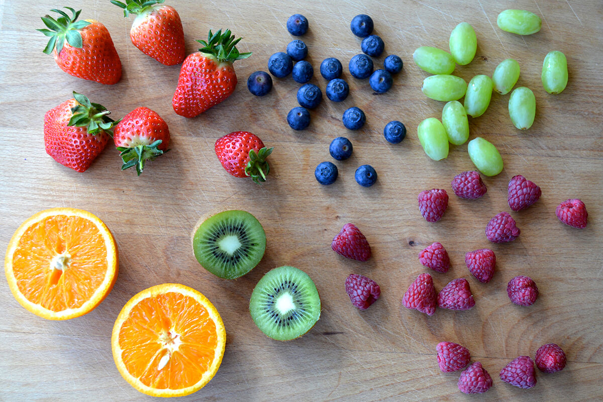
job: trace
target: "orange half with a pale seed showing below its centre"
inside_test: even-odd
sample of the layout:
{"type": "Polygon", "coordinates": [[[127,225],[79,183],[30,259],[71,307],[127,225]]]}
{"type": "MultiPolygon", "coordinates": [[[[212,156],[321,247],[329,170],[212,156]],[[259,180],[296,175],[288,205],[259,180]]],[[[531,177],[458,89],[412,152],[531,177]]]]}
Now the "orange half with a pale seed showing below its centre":
{"type": "Polygon", "coordinates": [[[203,388],[218,371],[225,346],[218,310],[200,292],[177,283],[134,295],[111,337],[121,375],[154,397],[181,397],[203,388]]]}

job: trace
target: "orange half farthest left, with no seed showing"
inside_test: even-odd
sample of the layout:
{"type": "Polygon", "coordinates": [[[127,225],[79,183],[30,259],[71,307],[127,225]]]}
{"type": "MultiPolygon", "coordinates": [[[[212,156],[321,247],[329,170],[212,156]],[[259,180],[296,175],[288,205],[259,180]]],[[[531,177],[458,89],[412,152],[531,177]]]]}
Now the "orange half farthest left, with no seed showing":
{"type": "Polygon", "coordinates": [[[8,243],[4,271],[14,297],[47,319],[84,315],[111,291],[118,251],[92,213],[53,208],[31,216],[8,243]]]}

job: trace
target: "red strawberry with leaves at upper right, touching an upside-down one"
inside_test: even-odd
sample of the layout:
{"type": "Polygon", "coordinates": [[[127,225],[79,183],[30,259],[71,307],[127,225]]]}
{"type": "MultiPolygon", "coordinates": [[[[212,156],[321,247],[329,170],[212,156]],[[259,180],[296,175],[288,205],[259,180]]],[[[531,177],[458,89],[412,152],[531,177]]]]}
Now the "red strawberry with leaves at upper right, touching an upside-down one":
{"type": "Polygon", "coordinates": [[[46,153],[58,163],[84,172],[103,151],[113,127],[110,111],[86,96],[74,98],[46,112],[44,145],[46,153]]]}

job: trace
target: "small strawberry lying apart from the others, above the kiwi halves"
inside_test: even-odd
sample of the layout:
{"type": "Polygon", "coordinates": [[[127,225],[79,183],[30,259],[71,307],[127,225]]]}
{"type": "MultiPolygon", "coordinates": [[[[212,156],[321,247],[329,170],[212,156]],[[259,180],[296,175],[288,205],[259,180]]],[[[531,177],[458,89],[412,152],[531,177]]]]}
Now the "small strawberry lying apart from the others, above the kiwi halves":
{"type": "Polygon", "coordinates": [[[235,131],[220,137],[214,150],[218,160],[227,172],[234,177],[248,177],[256,183],[266,181],[270,166],[266,158],[274,147],[266,148],[256,134],[248,131],[235,131]]]}

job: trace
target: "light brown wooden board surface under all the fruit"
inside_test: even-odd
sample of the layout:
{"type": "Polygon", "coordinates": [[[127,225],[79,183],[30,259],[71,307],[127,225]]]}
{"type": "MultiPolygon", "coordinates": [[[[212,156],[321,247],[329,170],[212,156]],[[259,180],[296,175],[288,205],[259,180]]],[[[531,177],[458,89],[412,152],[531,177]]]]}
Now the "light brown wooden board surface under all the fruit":
{"type": "Polygon", "coordinates": [[[110,335],[119,310],[134,294],[166,282],[183,283],[205,294],[224,319],[227,345],[216,376],[183,401],[426,401],[470,400],[456,388],[459,373],[443,374],[435,345],[453,341],[469,348],[482,362],[494,386],[481,400],[587,401],[603,398],[603,4],[599,0],[568,1],[349,1],[290,2],[168,1],[183,20],[187,52],[197,48],[211,28],[230,28],[244,39],[236,61],[239,85],[223,103],[194,119],[175,115],[171,98],[180,66],[163,66],[130,42],[133,18],[123,18],[109,0],[53,2],[0,1],[0,244],[6,247],[26,218],[49,207],[89,210],[113,231],[119,246],[119,277],[99,307],[80,318],[46,321],[23,309],[0,281],[1,401],[150,401],[131,388],[113,363],[110,335]],[[82,8],[82,17],[98,19],[112,34],[124,75],[104,86],[62,72],[42,53],[45,37],[40,16],[50,8],[82,8]],[[523,8],[542,17],[539,33],[521,37],[496,26],[505,8],[523,8]],[[312,83],[323,89],[320,61],[336,57],[344,64],[350,96],[341,103],[326,97],[311,111],[308,130],[293,131],[286,114],[297,105],[299,87],[291,77],[274,78],[267,96],[252,96],[245,81],[253,71],[267,71],[271,54],[284,51],[292,37],[285,22],[293,13],[308,17],[310,29],[301,39],[309,47],[315,70],[312,83]],[[384,95],[370,90],[367,80],[347,71],[360,52],[350,32],[353,16],[370,14],[385,53],[398,54],[403,71],[384,95]],[[508,95],[494,93],[487,112],[470,119],[470,138],[494,143],[504,171],[484,178],[487,194],[478,200],[457,198],[450,181],[472,170],[467,145],[451,146],[446,160],[429,160],[417,139],[417,125],[441,116],[443,102],[425,98],[420,87],[428,74],[412,61],[418,46],[448,49],[452,28],[469,22],[478,36],[478,51],[455,73],[470,80],[491,75],[505,58],[516,58],[522,72],[518,86],[537,98],[537,115],[528,131],[516,130],[507,111],[508,95]],[[569,84],[549,95],[540,83],[541,64],[552,50],[563,51],[569,84]],[[120,171],[118,152],[108,146],[83,174],[49,157],[43,145],[43,116],[84,93],[121,118],[136,107],[157,111],[168,122],[171,151],[147,165],[136,177],[120,171]],[[367,115],[362,130],[341,124],[343,111],[361,107],[367,115]],[[385,142],[382,130],[400,120],[408,136],[399,145],[385,142]],[[268,146],[268,181],[261,186],[228,175],[213,152],[218,137],[236,130],[258,134],[268,146]],[[321,186],[314,169],[332,160],[328,145],[349,137],[354,152],[336,162],[339,178],[321,186]],[[355,169],[368,163],[379,179],[370,188],[358,186],[355,169]],[[523,174],[542,189],[528,210],[511,215],[522,233],[516,241],[492,244],[485,239],[488,220],[509,210],[507,183],[523,174]],[[449,207],[437,223],[426,222],[417,208],[417,194],[446,189],[449,207]],[[577,230],[561,224],[555,207],[581,198],[589,224],[577,230]],[[244,209],[255,215],[267,234],[267,251],[245,277],[227,281],[206,272],[194,259],[190,233],[197,219],[211,211],[244,209]],[[361,263],[333,253],[330,242],[347,222],[367,237],[373,257],[361,263]],[[437,310],[428,317],[402,306],[402,295],[421,272],[419,251],[440,241],[450,254],[447,274],[431,272],[439,290],[453,278],[466,277],[476,306],[469,311],[437,310]],[[471,277],[464,254],[490,247],[497,256],[496,274],[488,284],[471,277]],[[292,342],[268,339],[255,327],[248,301],[260,277],[276,266],[294,265],[314,279],[321,295],[320,321],[292,342]],[[350,273],[373,278],[382,297],[370,309],[350,304],[344,280],[350,273]],[[540,297],[531,307],[510,302],[510,278],[534,278],[540,297]],[[567,367],[557,374],[537,372],[538,383],[522,390],[500,382],[500,369],[520,355],[554,342],[566,351],[567,367]]]}

